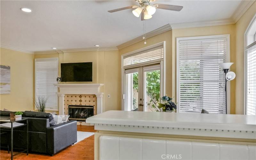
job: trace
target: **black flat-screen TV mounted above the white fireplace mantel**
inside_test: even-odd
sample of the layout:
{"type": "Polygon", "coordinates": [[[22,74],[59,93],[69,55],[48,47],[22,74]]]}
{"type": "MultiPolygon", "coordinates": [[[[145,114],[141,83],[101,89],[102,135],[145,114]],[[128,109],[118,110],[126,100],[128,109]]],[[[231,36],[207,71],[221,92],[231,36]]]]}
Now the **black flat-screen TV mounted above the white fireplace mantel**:
{"type": "Polygon", "coordinates": [[[92,82],[92,62],[61,63],[61,82],[92,82]]]}

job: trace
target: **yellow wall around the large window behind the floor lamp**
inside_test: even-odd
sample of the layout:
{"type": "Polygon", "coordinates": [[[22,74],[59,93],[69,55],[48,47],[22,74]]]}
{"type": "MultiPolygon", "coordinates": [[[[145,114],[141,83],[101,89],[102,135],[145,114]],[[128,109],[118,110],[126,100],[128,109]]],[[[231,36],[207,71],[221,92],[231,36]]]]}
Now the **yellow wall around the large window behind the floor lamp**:
{"type": "MultiPolygon", "coordinates": [[[[220,26],[209,26],[209,27],[196,27],[196,28],[182,28],[182,29],[173,29],[172,30],[172,63],[173,66],[173,81],[176,79],[176,37],[188,37],[188,36],[209,36],[209,35],[223,35],[230,34],[230,62],[236,62],[236,30],[235,25],[220,25],[220,26]]],[[[231,71],[236,73],[236,63],[234,63],[231,68],[231,71]]],[[[230,90],[230,113],[236,114],[236,79],[231,81],[231,90],[230,90]]],[[[172,91],[173,95],[176,95],[176,85],[173,85],[172,91]]]]}

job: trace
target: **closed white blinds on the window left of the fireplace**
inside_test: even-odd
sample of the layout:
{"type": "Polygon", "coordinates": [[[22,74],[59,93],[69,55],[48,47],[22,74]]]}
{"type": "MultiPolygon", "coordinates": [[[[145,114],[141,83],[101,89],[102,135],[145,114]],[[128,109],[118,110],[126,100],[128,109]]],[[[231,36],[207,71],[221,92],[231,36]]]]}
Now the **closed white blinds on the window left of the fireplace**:
{"type": "Polygon", "coordinates": [[[58,58],[35,60],[35,98],[36,100],[38,100],[38,97],[48,99],[46,110],[58,110],[58,97],[56,94],[58,88],[54,86],[57,83],[58,65],[58,58]]]}

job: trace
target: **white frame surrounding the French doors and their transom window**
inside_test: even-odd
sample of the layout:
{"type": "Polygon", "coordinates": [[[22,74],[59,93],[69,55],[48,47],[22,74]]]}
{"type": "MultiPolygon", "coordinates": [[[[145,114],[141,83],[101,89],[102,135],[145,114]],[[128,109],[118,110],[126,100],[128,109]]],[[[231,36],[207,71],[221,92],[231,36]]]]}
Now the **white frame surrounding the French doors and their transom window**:
{"type": "Polygon", "coordinates": [[[160,63],[160,67],[161,67],[161,86],[160,86],[160,95],[165,95],[165,64],[166,64],[166,60],[165,60],[165,41],[163,42],[159,42],[157,44],[153,44],[153,45],[149,45],[147,47],[143,47],[143,48],[140,48],[138,50],[135,50],[135,51],[132,51],[132,52],[128,52],[128,53],[125,53],[125,54],[122,54],[121,55],[121,95],[122,95],[122,100],[121,100],[121,106],[122,106],[122,110],[125,110],[125,102],[124,102],[124,83],[125,83],[125,69],[128,69],[128,68],[134,68],[134,67],[139,67],[139,66],[145,66],[145,65],[152,65],[152,64],[156,64],[156,63],[160,63]],[[149,50],[149,49],[152,49],[152,48],[155,48],[159,45],[163,45],[163,49],[164,49],[164,59],[163,60],[152,60],[152,61],[149,61],[149,62],[142,62],[140,64],[135,64],[135,65],[131,65],[130,67],[124,67],[124,57],[126,56],[129,56],[129,55],[132,55],[132,54],[136,54],[136,53],[139,53],[139,52],[143,52],[145,50],[149,50]]]}

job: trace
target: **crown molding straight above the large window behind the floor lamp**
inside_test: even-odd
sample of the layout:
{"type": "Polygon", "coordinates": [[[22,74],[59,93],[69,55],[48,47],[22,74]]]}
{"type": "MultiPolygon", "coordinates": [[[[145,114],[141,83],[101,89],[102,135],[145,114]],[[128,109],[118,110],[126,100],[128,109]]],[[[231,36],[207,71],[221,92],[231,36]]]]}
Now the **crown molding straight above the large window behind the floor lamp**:
{"type": "Polygon", "coordinates": [[[179,28],[193,28],[193,27],[205,27],[205,26],[219,26],[219,25],[228,25],[235,24],[235,22],[228,18],[222,20],[204,20],[196,22],[182,22],[182,23],[172,23],[172,29],[179,28]]]}

